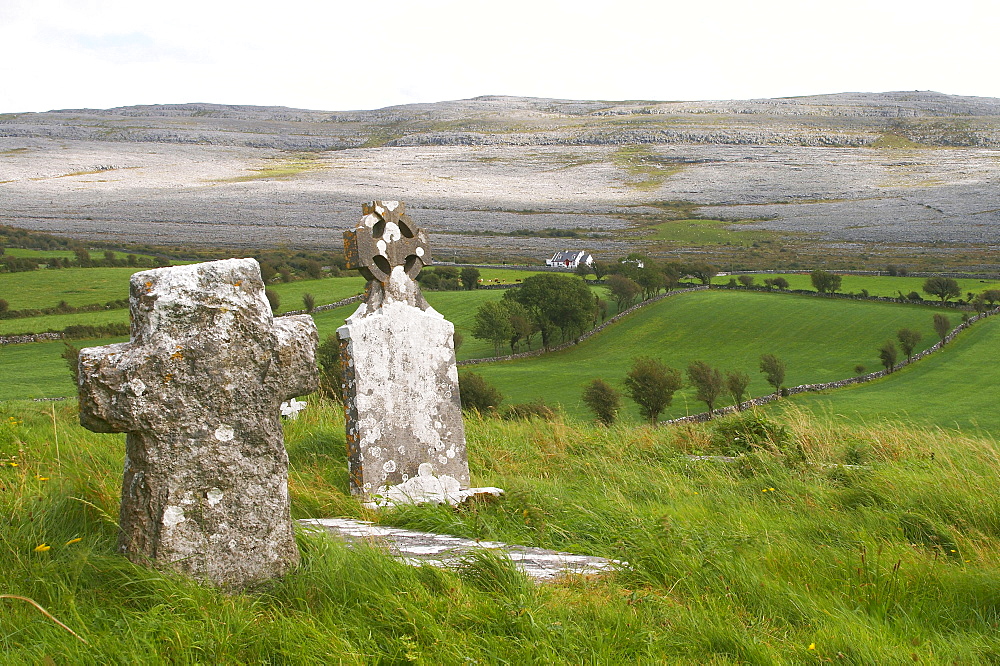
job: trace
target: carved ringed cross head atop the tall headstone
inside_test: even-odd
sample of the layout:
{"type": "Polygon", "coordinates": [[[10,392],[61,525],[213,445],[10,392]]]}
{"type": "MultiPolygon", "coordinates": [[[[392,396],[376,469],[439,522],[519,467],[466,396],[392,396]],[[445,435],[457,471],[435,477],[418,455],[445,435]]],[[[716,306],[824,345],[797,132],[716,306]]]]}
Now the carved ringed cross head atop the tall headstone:
{"type": "Polygon", "coordinates": [[[358,226],[344,232],[344,257],[367,280],[385,284],[396,266],[411,280],[431,262],[430,244],[423,229],[413,226],[402,201],[363,204],[358,226]]]}

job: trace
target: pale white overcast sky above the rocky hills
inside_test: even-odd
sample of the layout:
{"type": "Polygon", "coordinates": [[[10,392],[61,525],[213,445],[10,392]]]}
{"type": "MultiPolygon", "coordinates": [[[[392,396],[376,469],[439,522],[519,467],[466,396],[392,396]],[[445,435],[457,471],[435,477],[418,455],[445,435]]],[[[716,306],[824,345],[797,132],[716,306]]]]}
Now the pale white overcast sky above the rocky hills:
{"type": "Polygon", "coordinates": [[[0,0],[0,112],[523,95],[1000,97],[982,0],[0,0]]]}

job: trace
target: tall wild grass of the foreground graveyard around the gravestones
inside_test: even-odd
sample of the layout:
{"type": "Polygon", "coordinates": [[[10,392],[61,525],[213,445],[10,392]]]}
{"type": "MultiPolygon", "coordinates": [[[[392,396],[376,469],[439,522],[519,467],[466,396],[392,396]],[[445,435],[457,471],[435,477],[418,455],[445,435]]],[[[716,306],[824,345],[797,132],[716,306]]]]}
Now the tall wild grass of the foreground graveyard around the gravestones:
{"type": "Polygon", "coordinates": [[[604,429],[471,418],[499,502],[367,514],[346,495],[340,410],[287,425],[296,517],[384,523],[614,557],[534,585],[495,558],[399,564],[300,532],[302,566],[223,594],[114,554],[123,437],[72,403],[0,404],[8,663],[995,663],[996,442],[782,418],[736,463],[718,424],[604,429]],[[861,463],[846,468],[833,463],[861,463]],[[12,466],[11,463],[16,463],[12,466]],[[48,546],[46,549],[44,546],[48,546]]]}

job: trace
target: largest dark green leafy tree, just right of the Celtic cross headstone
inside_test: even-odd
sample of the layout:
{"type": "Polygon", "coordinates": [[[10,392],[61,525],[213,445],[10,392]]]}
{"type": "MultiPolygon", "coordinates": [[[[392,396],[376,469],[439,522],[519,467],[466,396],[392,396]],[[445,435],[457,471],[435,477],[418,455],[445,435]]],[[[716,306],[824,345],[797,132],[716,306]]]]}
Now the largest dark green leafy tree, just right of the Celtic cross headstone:
{"type": "Polygon", "coordinates": [[[563,336],[582,333],[594,320],[594,297],[578,277],[544,273],[525,278],[520,289],[509,289],[504,300],[524,306],[542,333],[548,349],[557,332],[563,336]]]}

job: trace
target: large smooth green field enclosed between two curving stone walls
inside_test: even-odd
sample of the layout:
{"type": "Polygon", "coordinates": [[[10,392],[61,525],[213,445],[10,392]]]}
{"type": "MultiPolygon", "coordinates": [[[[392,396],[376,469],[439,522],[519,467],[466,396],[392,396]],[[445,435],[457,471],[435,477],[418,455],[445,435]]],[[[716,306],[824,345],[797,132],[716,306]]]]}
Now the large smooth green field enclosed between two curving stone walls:
{"type": "MultiPolygon", "coordinates": [[[[601,377],[621,386],[636,356],[653,356],[684,369],[702,360],[751,377],[751,395],[770,387],[759,373],[761,354],[785,361],[787,386],[845,379],[856,365],[881,368],[878,349],[896,331],[922,333],[920,349],[936,340],[928,306],[844,301],[813,296],[710,291],[667,298],[642,308],[579,346],[537,359],[469,368],[494,383],[507,403],[543,398],[578,417],[589,414],[580,401],[584,384],[601,377]]],[[[958,318],[955,316],[955,323],[958,318]]],[[[719,406],[730,404],[723,402],[719,406]]],[[[690,389],[674,396],[663,418],[704,411],[690,389]]],[[[629,402],[626,413],[638,419],[629,402]]]]}

